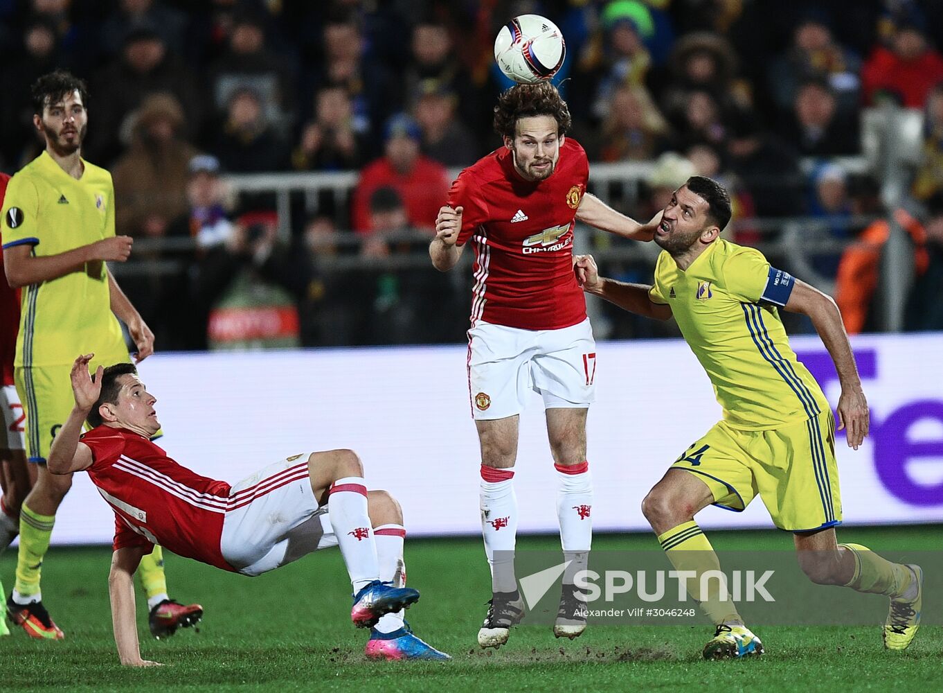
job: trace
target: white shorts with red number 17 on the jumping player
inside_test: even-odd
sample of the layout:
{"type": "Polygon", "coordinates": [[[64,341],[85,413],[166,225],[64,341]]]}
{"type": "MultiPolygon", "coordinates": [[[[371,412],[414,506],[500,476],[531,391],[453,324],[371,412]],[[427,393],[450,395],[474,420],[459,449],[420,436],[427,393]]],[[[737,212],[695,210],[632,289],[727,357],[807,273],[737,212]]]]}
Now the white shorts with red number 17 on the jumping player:
{"type": "Polygon", "coordinates": [[[561,330],[481,322],[469,330],[472,418],[521,414],[530,393],[544,409],[586,409],[596,397],[596,342],[589,318],[561,330]]]}

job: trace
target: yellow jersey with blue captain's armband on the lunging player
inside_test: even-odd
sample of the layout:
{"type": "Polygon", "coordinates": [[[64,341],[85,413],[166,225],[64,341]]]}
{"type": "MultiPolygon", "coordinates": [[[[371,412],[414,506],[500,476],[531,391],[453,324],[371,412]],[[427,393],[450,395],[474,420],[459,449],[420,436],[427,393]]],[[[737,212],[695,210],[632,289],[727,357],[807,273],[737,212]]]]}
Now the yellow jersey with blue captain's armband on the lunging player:
{"type": "Polygon", "coordinates": [[[685,271],[668,252],[658,256],[649,297],[671,307],[733,428],[777,429],[829,411],[776,308],[794,285],[758,250],[721,239],[685,271]]]}

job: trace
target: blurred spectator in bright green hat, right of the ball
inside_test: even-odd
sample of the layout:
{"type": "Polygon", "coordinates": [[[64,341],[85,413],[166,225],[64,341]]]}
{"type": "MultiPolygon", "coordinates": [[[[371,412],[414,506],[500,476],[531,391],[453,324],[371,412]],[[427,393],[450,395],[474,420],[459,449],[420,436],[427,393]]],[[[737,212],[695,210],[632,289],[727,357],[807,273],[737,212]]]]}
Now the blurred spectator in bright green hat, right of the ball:
{"type": "Polygon", "coordinates": [[[579,103],[589,98],[591,115],[597,120],[608,114],[609,102],[620,86],[645,84],[652,65],[645,40],[654,34],[652,13],[636,0],[609,3],[600,23],[603,33],[587,44],[578,68],[580,76],[574,79],[575,98],[571,99],[579,114],[579,103]],[[594,92],[582,94],[581,90],[594,85],[594,92]]]}

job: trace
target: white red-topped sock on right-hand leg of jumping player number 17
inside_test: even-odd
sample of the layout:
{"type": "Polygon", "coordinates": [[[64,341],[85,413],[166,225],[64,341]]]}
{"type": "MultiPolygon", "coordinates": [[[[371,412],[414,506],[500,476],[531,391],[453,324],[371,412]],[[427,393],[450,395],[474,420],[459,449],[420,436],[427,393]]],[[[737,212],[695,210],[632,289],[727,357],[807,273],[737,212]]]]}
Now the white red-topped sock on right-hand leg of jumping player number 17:
{"type": "Polygon", "coordinates": [[[587,568],[592,546],[592,478],[589,463],[554,465],[557,493],[556,516],[560,520],[560,544],[564,560],[570,565],[563,572],[563,582],[572,584],[573,578],[587,568]]]}

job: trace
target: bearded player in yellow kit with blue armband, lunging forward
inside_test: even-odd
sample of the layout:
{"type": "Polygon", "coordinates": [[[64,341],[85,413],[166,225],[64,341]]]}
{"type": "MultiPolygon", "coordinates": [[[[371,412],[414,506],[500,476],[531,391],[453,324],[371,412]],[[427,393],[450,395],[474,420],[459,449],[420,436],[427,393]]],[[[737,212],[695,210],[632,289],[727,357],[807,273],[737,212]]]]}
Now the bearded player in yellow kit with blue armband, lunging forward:
{"type": "Polygon", "coordinates": [[[717,626],[708,659],[761,654],[719,585],[700,594],[700,575],[719,570],[694,515],[710,504],[742,511],[758,493],[780,529],[793,532],[799,563],[815,583],[890,598],[885,647],[903,650],[920,623],[923,573],[890,563],[858,544],[837,544],[841,522],[835,419],[819,384],[796,359],[777,307],[807,315],[828,349],[838,378],[838,430],[857,449],[868,434],[868,402],[852,347],[831,297],[769,266],[753,248],[720,239],[730,197],[706,177],[690,177],[672,195],[655,243],[663,248],[654,285],[599,277],[591,256],[577,259],[577,279],[590,294],[632,313],[672,315],[701,362],[723,419],[670,466],[642,502],[642,512],[678,570],[699,577],[691,596],[717,626]]]}

